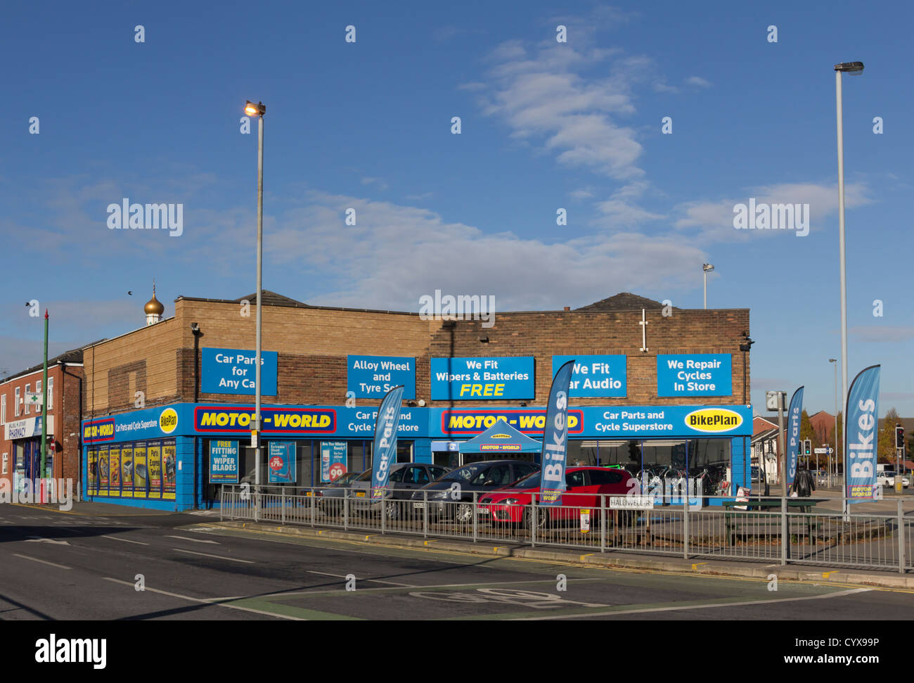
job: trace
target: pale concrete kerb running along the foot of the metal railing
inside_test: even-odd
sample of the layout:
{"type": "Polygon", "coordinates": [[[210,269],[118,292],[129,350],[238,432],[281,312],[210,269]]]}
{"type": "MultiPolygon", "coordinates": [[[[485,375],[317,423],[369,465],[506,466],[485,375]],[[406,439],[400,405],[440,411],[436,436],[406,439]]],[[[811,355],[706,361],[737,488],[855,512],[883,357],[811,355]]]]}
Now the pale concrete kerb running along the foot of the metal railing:
{"type": "Polygon", "coordinates": [[[615,553],[587,553],[579,550],[545,550],[518,545],[493,545],[492,542],[477,542],[454,539],[421,539],[415,537],[379,535],[366,532],[341,531],[336,529],[298,528],[258,522],[220,521],[207,522],[208,527],[238,528],[248,531],[267,531],[290,536],[312,539],[336,539],[357,541],[381,547],[417,548],[423,550],[452,550],[455,552],[484,555],[488,557],[514,557],[526,560],[552,560],[563,563],[594,566],[607,569],[669,571],[681,574],[707,576],[729,576],[768,580],[771,574],[784,581],[846,583],[857,586],[914,589],[914,575],[899,575],[889,572],[874,573],[857,570],[835,570],[829,567],[813,568],[792,565],[762,565],[759,563],[685,560],[656,556],[620,557],[615,553]]]}

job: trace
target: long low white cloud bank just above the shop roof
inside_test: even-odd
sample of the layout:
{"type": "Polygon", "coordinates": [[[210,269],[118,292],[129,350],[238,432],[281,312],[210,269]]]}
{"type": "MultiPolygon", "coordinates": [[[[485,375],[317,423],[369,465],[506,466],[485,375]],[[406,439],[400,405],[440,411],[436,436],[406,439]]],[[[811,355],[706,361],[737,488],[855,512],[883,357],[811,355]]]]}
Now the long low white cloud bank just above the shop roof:
{"type": "Polygon", "coordinates": [[[423,208],[323,192],[308,199],[277,220],[266,249],[278,264],[325,270],[334,289],[311,304],[416,311],[419,297],[436,289],[494,294],[502,311],[574,307],[631,291],[675,298],[694,286],[692,264],[706,256],[633,232],[547,242],[485,234],[423,208]],[[356,226],[343,225],[348,207],[356,208],[356,226]]]}

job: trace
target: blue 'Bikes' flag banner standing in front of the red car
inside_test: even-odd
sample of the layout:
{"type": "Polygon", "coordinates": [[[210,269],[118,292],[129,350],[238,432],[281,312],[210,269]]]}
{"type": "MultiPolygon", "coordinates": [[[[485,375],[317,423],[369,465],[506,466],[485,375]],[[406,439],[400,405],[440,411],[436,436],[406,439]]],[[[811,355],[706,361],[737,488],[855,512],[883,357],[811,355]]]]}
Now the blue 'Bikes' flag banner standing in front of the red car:
{"type": "Polygon", "coordinates": [[[543,453],[540,457],[539,500],[543,505],[562,504],[565,490],[565,461],[569,437],[569,385],[574,359],[558,368],[549,390],[546,427],[543,429],[543,453]]]}

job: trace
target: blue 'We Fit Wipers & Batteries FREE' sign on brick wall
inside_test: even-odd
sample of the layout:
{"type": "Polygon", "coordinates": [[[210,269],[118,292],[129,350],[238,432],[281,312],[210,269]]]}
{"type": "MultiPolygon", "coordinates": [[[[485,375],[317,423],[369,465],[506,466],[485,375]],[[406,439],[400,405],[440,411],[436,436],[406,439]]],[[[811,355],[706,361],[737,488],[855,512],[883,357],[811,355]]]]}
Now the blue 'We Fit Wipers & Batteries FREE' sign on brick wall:
{"type": "Polygon", "coordinates": [[[534,358],[431,358],[431,400],[532,399],[534,358]]]}

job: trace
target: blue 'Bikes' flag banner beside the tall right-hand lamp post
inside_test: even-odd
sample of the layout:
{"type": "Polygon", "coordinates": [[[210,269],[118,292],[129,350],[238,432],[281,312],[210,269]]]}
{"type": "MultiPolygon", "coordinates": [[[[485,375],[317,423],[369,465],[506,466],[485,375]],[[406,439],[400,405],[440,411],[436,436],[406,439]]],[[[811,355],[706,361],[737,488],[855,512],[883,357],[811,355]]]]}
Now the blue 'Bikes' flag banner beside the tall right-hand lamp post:
{"type": "Polygon", "coordinates": [[[878,400],[879,366],[874,365],[861,370],[847,392],[845,484],[849,503],[876,498],[878,400]]]}

